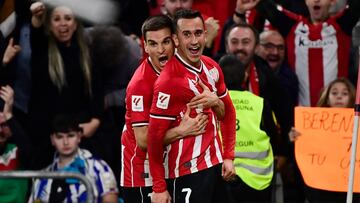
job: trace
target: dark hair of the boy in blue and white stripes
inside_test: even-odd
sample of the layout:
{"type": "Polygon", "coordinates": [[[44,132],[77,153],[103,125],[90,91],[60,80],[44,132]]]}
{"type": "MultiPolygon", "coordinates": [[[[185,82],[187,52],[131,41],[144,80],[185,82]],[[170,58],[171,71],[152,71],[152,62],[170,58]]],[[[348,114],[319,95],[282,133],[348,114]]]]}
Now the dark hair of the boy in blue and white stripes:
{"type": "Polygon", "coordinates": [[[51,124],[51,134],[68,133],[71,131],[81,132],[80,122],[76,116],[68,114],[58,114],[54,117],[51,124]]]}

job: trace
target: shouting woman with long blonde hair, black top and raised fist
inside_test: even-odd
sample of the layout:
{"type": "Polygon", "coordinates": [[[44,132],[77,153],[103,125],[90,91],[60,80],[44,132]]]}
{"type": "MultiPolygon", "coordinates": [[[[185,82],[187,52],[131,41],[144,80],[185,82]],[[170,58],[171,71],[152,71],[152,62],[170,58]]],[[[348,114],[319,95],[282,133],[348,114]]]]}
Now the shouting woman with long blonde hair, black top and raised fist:
{"type": "Polygon", "coordinates": [[[92,68],[81,22],[71,9],[57,6],[45,15],[42,2],[33,3],[30,9],[32,93],[29,136],[37,150],[34,167],[40,169],[52,159],[48,135],[54,115],[77,115],[83,129],[82,144],[89,148],[90,137],[100,124],[104,105],[101,74],[92,68]]]}

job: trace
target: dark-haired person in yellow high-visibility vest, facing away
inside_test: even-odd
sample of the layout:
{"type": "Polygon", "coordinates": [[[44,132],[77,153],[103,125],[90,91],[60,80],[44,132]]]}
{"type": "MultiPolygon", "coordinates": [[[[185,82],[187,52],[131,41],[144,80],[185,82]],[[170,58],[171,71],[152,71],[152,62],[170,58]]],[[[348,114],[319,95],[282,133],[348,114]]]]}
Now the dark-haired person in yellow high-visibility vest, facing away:
{"type": "Polygon", "coordinates": [[[271,108],[263,98],[243,90],[248,75],[238,57],[225,55],[219,65],[236,109],[237,176],[227,184],[230,202],[271,202],[275,173],[271,142],[278,137],[271,108]]]}

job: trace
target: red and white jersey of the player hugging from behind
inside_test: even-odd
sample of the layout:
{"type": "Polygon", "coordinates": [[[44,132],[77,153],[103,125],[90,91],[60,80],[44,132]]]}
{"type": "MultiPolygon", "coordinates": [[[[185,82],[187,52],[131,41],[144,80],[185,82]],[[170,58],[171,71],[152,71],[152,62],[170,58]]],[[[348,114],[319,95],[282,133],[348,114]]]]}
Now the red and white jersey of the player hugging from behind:
{"type": "Polygon", "coordinates": [[[133,127],[149,125],[153,86],[159,74],[148,58],[137,68],[126,90],[125,128],[121,137],[123,187],[152,186],[147,152],[136,145],[133,127]]]}

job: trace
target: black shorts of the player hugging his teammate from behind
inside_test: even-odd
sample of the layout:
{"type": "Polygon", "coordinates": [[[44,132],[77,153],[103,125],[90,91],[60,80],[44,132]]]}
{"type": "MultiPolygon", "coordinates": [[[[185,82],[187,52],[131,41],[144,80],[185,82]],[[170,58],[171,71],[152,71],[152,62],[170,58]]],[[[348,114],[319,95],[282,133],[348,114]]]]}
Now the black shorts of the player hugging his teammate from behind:
{"type": "Polygon", "coordinates": [[[124,203],[151,203],[152,187],[122,187],[124,203]]]}

